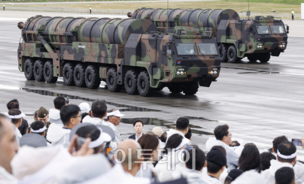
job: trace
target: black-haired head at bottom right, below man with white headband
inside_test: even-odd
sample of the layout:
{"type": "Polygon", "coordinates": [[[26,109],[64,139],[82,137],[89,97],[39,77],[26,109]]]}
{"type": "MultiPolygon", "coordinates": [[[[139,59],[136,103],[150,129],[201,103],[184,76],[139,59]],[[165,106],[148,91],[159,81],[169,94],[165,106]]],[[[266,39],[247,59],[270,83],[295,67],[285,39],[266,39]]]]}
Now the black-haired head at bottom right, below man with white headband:
{"type": "Polygon", "coordinates": [[[282,167],[275,173],[276,184],[293,184],[294,171],[290,167],[282,167]]]}

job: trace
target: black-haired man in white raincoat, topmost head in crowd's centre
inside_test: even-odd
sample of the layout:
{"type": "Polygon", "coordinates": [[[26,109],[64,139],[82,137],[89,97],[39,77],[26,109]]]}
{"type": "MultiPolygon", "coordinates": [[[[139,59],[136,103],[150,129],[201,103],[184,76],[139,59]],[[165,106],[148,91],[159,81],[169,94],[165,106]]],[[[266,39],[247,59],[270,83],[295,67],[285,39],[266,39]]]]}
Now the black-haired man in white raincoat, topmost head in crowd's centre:
{"type": "MultiPolygon", "coordinates": [[[[167,131],[167,141],[169,137],[175,133],[180,134],[182,137],[185,137],[185,134],[187,134],[189,129],[189,119],[186,117],[180,117],[176,121],[175,129],[169,129],[167,131]]],[[[189,140],[186,139],[186,146],[189,146],[189,140]]]]}

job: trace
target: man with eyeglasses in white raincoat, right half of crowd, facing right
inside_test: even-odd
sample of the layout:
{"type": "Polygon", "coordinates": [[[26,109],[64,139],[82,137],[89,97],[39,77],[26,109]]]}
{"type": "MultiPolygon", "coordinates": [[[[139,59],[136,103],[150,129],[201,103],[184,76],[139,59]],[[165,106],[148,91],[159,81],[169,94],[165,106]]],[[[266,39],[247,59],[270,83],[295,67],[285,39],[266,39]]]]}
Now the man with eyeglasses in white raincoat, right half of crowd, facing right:
{"type": "Polygon", "coordinates": [[[206,142],[206,148],[208,151],[214,146],[222,146],[226,150],[227,169],[228,171],[236,169],[239,166],[239,155],[229,145],[232,142],[232,134],[229,130],[229,126],[219,125],[214,129],[215,137],[210,137],[206,142]]]}

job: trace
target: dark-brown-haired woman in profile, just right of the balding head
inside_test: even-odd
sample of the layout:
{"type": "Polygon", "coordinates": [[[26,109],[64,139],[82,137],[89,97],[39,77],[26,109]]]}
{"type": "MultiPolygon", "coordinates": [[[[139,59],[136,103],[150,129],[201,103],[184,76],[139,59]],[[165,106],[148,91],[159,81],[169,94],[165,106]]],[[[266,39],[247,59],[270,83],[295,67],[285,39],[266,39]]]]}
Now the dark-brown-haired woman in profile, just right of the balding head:
{"type": "Polygon", "coordinates": [[[160,142],[155,135],[144,134],[138,140],[142,149],[143,161],[140,169],[136,173],[136,177],[149,178],[153,182],[159,182],[159,176],[154,168],[153,163],[159,161],[160,142]]]}

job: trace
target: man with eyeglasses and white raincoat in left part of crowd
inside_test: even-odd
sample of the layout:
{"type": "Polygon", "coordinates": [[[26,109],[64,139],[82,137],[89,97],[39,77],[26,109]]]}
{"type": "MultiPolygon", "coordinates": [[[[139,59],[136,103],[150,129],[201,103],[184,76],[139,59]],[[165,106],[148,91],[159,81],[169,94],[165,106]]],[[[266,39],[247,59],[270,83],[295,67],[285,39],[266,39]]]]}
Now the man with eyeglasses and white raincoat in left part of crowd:
{"type": "Polygon", "coordinates": [[[69,133],[81,121],[80,108],[77,105],[68,105],[60,109],[60,118],[63,126],[52,123],[48,129],[47,140],[54,145],[69,146],[69,133]]]}

